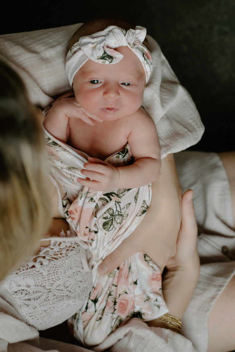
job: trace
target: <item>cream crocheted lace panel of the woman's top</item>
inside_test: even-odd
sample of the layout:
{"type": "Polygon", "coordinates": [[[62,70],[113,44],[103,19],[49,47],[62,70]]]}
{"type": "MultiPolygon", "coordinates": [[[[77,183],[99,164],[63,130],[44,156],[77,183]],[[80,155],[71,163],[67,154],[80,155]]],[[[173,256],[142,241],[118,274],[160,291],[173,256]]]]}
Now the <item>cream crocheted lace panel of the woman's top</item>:
{"type": "Polygon", "coordinates": [[[82,307],[92,287],[83,257],[76,237],[50,238],[48,247],[4,280],[27,324],[44,330],[82,307]]]}

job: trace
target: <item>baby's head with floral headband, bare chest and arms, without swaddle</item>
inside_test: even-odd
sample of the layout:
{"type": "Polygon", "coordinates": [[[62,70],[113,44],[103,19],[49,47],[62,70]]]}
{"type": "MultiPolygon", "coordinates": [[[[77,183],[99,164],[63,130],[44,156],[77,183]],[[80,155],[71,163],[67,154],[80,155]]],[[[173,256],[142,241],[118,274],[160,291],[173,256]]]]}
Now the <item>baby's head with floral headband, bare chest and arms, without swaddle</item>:
{"type": "Polygon", "coordinates": [[[63,110],[44,120],[44,127],[54,137],[90,156],[81,170],[87,179],[78,178],[78,182],[93,190],[144,186],[160,173],[156,127],[141,107],[152,70],[150,53],[142,44],[146,29],[136,27],[124,33],[109,26],[80,38],[67,55],[73,102],[96,115],[96,120],[86,122],[63,110]],[[104,162],[127,143],[133,156],[131,165],[116,168],[104,162]]]}

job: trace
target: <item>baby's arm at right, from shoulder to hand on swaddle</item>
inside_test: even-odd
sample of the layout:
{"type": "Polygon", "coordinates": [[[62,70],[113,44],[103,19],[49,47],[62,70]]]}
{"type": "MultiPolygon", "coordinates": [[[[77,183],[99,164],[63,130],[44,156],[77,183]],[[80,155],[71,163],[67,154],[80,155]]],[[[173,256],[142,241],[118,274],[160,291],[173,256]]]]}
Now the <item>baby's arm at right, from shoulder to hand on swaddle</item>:
{"type": "Polygon", "coordinates": [[[111,188],[135,188],[144,186],[160,174],[160,143],[155,124],[143,108],[126,118],[125,133],[134,163],[129,166],[115,168],[97,158],[88,158],[84,164],[88,170],[82,174],[90,180],[79,178],[84,186],[94,190],[111,188]]]}

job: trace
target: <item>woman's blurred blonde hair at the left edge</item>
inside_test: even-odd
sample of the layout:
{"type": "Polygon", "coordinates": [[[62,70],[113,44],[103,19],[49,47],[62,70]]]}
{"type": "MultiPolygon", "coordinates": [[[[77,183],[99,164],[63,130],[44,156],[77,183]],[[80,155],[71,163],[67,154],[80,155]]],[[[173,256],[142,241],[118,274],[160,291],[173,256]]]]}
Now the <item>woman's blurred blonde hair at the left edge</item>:
{"type": "Polygon", "coordinates": [[[0,61],[0,279],[31,255],[50,225],[39,112],[19,76],[0,61]]]}

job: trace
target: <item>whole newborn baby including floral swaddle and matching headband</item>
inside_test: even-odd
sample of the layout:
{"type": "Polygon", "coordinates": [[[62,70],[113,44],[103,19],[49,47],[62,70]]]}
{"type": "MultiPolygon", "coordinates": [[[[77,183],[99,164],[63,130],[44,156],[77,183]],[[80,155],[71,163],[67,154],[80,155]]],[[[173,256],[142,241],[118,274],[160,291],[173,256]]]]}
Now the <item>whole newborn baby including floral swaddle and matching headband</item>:
{"type": "Polygon", "coordinates": [[[75,97],[59,98],[43,123],[54,176],[73,202],[64,204],[65,217],[92,254],[93,289],[73,317],[75,337],[86,345],[130,318],[167,312],[161,272],[146,254],[135,253],[111,274],[97,270],[142,220],[161,167],[156,127],[141,107],[152,70],[146,29],[125,26],[89,21],[75,32],[66,58],[75,97]]]}

